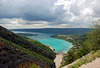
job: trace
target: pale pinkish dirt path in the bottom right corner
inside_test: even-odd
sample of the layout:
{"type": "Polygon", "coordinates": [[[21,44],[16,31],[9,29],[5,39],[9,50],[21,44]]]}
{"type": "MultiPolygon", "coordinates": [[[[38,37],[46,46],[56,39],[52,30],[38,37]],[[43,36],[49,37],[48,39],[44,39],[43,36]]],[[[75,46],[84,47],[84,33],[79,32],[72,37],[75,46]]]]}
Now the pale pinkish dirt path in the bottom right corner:
{"type": "Polygon", "coordinates": [[[100,58],[97,58],[96,60],[94,60],[91,63],[88,63],[86,65],[83,64],[79,68],[100,68],[100,58]]]}

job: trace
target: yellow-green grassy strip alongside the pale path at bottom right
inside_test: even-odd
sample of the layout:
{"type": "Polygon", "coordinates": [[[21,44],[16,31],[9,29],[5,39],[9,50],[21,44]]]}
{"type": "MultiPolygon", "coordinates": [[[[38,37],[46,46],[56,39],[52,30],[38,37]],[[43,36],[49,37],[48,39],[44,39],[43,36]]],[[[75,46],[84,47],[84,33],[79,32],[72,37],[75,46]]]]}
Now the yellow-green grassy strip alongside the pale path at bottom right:
{"type": "Polygon", "coordinates": [[[86,56],[76,60],[74,64],[70,65],[68,68],[79,68],[82,64],[87,64],[89,62],[92,62],[95,58],[98,57],[100,58],[100,50],[96,52],[91,52],[86,56]]]}

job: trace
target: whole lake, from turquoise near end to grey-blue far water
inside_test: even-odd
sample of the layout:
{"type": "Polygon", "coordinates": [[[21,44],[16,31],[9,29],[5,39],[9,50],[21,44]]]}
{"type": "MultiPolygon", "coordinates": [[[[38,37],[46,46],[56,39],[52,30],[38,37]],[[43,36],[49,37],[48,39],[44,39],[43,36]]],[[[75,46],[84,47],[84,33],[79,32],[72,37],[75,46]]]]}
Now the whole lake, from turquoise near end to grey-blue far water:
{"type": "Polygon", "coordinates": [[[50,47],[52,47],[56,52],[66,53],[69,50],[69,48],[72,47],[72,43],[70,42],[50,37],[54,34],[44,34],[35,32],[15,32],[15,33],[38,34],[37,36],[29,36],[29,38],[38,40],[39,42],[45,45],[50,45],[50,47]]]}

